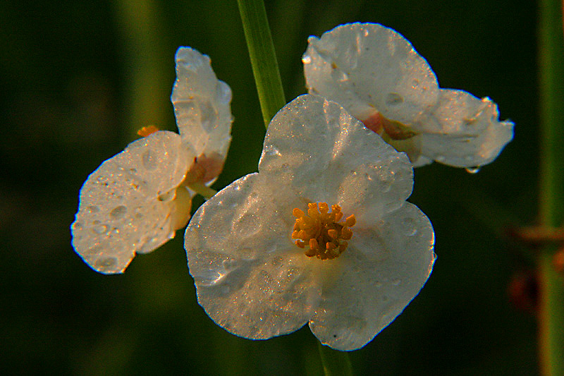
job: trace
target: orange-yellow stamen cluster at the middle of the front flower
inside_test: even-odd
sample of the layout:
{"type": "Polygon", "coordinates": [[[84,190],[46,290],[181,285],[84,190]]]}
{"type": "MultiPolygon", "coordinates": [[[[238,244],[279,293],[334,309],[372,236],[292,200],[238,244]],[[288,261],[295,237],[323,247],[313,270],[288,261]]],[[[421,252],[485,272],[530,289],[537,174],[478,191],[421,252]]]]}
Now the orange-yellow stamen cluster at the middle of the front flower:
{"type": "Polygon", "coordinates": [[[347,249],[348,241],[353,237],[353,231],[349,227],[355,226],[357,222],[355,214],[350,215],[343,222],[341,207],[329,205],[326,202],[307,204],[307,214],[297,207],[293,210],[295,224],[292,238],[298,239],[295,245],[309,249],[305,251],[307,257],[317,257],[321,260],[333,259],[341,255],[347,249]]]}

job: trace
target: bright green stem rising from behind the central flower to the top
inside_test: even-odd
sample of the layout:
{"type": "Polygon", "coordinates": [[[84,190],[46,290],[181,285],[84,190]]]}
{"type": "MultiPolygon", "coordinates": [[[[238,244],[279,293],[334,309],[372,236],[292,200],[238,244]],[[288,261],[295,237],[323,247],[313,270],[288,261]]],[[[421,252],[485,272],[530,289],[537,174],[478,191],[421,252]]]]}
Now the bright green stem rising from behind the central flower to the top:
{"type": "Polygon", "coordinates": [[[262,0],[237,0],[249,48],[252,73],[259,92],[264,126],[286,104],[266,9],[262,0]]]}

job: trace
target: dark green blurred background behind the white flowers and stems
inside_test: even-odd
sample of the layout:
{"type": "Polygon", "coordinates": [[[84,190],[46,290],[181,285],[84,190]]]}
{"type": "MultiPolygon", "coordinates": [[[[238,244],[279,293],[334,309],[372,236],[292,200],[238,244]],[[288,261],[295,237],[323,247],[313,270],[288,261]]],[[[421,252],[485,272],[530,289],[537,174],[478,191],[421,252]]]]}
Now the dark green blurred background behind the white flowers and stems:
{"type": "MultiPolygon", "coordinates": [[[[510,226],[537,213],[534,1],[266,1],[286,99],[305,92],[309,35],[341,23],[398,30],[441,87],[497,102],[515,140],[478,174],[415,171],[410,201],[436,231],[434,272],[404,313],[359,351],[358,375],[534,375],[534,281],[510,226]],[[513,284],[528,291],[534,284],[513,284]],[[515,300],[515,299],[514,299],[515,300]],[[523,309],[525,308],[525,309],[523,309]]],[[[233,143],[220,189],[256,171],[264,126],[235,0],[0,2],[0,372],[57,375],[315,375],[307,326],[240,339],[197,305],[183,231],[127,272],[92,271],[69,226],[90,172],[154,124],[176,130],[174,52],[211,56],[233,90],[233,143]]],[[[199,205],[195,202],[194,210],[199,205]]]]}

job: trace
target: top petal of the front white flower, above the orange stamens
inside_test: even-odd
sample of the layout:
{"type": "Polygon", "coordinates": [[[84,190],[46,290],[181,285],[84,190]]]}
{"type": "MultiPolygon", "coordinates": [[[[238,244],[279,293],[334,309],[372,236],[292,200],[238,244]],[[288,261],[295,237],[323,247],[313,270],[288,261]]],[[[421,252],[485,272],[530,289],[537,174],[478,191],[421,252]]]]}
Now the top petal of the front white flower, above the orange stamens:
{"type": "Polygon", "coordinates": [[[317,95],[302,95],[274,116],[259,172],[276,174],[309,202],[335,202],[358,214],[366,200],[383,212],[397,208],[413,183],[405,154],[317,95]]]}

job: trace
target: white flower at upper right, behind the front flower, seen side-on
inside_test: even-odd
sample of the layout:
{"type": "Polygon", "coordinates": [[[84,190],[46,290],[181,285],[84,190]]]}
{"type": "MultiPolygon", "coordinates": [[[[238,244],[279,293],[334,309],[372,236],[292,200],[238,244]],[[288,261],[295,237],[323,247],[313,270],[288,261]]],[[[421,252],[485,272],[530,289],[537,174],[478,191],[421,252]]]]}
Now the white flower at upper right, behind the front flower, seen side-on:
{"type": "Polygon", "coordinates": [[[494,102],[439,88],[427,61],[395,30],[352,23],[308,43],[309,92],[341,104],[414,166],[479,167],[513,138],[513,123],[498,120],[494,102]]]}

